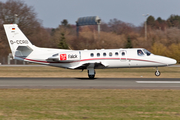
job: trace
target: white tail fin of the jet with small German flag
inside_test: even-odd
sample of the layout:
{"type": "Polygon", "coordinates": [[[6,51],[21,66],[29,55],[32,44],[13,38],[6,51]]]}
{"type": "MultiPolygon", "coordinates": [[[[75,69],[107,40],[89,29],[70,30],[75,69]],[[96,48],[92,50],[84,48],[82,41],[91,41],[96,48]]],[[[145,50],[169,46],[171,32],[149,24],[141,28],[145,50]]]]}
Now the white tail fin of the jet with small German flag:
{"type": "Polygon", "coordinates": [[[13,58],[17,56],[27,57],[33,51],[34,45],[31,44],[17,24],[4,24],[4,29],[13,58]]]}

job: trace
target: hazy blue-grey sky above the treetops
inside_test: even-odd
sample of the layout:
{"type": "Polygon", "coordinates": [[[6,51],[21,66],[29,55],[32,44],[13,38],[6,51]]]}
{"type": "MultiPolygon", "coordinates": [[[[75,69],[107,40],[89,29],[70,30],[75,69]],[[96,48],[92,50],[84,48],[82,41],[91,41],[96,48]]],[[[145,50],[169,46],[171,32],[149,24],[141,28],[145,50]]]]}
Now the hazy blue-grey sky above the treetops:
{"type": "MultiPolygon", "coordinates": [[[[5,2],[7,0],[0,0],[5,2]]],[[[142,14],[167,19],[171,14],[180,15],[180,0],[22,0],[33,6],[44,27],[56,28],[63,19],[75,24],[78,17],[99,16],[139,26],[145,21],[142,14]]]]}

